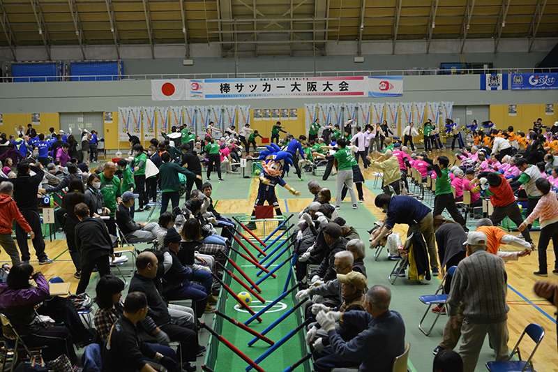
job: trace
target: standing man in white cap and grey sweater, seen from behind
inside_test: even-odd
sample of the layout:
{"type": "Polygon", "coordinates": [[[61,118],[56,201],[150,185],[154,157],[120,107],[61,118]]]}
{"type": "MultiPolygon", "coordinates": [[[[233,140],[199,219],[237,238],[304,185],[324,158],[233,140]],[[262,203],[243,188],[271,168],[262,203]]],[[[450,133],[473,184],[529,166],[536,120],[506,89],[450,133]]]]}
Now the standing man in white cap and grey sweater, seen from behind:
{"type": "Polygon", "coordinates": [[[460,322],[460,304],[465,303],[459,347],[464,372],[474,372],[486,334],[496,360],[508,359],[508,276],[504,261],[486,251],[487,242],[483,232],[469,232],[464,243],[468,257],[459,262],[448,295],[449,316],[454,327],[460,322]]]}

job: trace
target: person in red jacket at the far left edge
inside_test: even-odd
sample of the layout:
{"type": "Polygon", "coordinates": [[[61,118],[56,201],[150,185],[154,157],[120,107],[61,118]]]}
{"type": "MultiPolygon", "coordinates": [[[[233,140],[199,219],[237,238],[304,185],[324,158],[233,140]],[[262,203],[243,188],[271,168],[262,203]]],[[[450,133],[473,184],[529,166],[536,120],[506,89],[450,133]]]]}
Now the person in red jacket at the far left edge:
{"type": "Polygon", "coordinates": [[[17,209],[12,195],[13,184],[11,182],[2,182],[0,184],[0,246],[6,249],[6,252],[12,258],[12,265],[17,265],[20,263],[20,253],[17,251],[12,237],[13,220],[15,219],[25,232],[29,232],[31,239],[35,237],[35,233],[31,230],[29,223],[23,218],[20,209],[17,209]]]}

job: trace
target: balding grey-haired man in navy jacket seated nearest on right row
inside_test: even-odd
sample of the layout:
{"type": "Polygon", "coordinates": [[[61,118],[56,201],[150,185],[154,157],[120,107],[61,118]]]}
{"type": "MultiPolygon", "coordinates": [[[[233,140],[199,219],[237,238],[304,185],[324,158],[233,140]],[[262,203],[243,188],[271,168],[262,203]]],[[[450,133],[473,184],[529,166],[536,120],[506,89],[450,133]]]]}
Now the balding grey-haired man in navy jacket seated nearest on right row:
{"type": "Polygon", "coordinates": [[[405,323],[400,313],[389,310],[390,302],[391,290],[374,285],[366,292],[366,311],[320,311],[316,319],[328,332],[330,352],[353,365],[359,364],[359,372],[391,371],[393,359],[405,352],[405,323]],[[345,341],[335,329],[335,322],[340,320],[343,326],[364,330],[345,341]]]}

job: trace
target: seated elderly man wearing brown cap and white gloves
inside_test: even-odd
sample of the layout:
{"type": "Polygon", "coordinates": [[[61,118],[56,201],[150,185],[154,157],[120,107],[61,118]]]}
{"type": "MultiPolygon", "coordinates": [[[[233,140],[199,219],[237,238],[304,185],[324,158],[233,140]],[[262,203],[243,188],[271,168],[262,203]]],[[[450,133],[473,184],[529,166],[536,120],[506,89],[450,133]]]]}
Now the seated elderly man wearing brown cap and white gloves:
{"type": "MultiPolygon", "coordinates": [[[[366,296],[363,290],[367,287],[368,282],[363,274],[351,271],[349,274],[337,274],[337,280],[341,283],[341,292],[343,303],[339,308],[330,308],[322,304],[312,305],[312,313],[317,314],[319,311],[366,311],[366,296]]],[[[363,328],[338,323],[335,329],[344,341],[352,340],[356,335],[363,331],[363,328]]],[[[316,371],[331,371],[333,368],[352,367],[354,362],[339,359],[331,351],[329,346],[329,337],[326,332],[319,329],[319,324],[312,325],[306,334],[306,343],[310,345],[312,340],[314,348],[314,366],[316,371]]]]}

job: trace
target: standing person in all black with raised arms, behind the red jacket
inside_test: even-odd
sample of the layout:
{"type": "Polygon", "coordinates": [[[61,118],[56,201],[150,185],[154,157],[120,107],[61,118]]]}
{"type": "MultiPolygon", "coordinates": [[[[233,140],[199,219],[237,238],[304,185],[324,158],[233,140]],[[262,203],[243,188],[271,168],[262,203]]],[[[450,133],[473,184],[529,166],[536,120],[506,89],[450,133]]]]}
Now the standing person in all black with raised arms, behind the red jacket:
{"type": "MultiPolygon", "coordinates": [[[[31,226],[31,230],[35,233],[33,238],[33,248],[39,260],[39,265],[47,265],[52,263],[45,253],[45,240],[43,239],[43,229],[41,229],[39,207],[37,200],[37,190],[40,183],[43,181],[42,165],[40,163],[33,164],[26,161],[20,161],[17,164],[17,177],[16,178],[2,178],[2,181],[13,183],[13,199],[20,209],[25,221],[31,226]],[[31,176],[31,170],[35,172],[31,176]]],[[[20,247],[22,253],[22,261],[28,262],[31,258],[29,254],[29,246],[27,246],[27,232],[17,224],[15,225],[15,237],[17,239],[17,246],[20,247]]]]}

